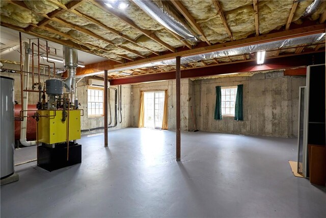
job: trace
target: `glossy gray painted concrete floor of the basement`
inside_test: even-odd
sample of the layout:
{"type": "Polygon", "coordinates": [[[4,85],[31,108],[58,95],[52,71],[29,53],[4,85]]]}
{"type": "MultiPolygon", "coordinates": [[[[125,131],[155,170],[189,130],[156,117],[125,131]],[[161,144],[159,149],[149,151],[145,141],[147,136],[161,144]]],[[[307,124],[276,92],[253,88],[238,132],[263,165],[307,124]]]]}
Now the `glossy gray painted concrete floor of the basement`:
{"type": "Polygon", "coordinates": [[[108,137],[108,148],[103,135],[78,140],[82,164],[17,166],[19,181],[1,187],[1,217],[326,216],[325,188],[291,172],[295,138],[182,132],[176,162],[173,131],[108,137]]]}

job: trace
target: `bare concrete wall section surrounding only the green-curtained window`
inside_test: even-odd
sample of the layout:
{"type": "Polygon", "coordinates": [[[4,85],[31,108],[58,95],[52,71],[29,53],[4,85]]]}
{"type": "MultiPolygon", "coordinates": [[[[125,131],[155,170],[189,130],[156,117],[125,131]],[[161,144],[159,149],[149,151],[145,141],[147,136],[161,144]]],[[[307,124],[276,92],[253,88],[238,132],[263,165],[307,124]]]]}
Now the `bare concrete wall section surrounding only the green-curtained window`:
{"type": "Polygon", "coordinates": [[[201,131],[277,137],[297,136],[298,92],[305,77],[283,76],[283,71],[252,77],[194,81],[196,119],[201,131]],[[243,121],[223,116],[214,119],[215,86],[243,84],[243,121]]]}

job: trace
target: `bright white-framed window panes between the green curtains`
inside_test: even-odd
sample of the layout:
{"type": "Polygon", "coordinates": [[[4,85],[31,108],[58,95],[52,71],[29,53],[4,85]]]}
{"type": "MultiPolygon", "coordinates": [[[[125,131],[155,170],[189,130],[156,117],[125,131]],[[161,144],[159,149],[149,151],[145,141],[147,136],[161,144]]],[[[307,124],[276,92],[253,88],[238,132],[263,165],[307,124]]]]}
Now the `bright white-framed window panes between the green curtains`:
{"type": "Polygon", "coordinates": [[[234,116],[237,87],[221,87],[222,116],[234,116]]]}

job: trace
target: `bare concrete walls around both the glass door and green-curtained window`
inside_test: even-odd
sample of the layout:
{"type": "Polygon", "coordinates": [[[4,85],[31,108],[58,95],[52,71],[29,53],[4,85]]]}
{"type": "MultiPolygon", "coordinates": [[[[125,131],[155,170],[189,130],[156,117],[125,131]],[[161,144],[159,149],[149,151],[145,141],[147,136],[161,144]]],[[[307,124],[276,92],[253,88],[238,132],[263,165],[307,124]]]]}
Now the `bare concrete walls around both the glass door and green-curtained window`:
{"type": "MultiPolygon", "coordinates": [[[[283,76],[283,71],[256,74],[252,77],[181,80],[181,130],[192,131],[193,107],[196,127],[201,131],[276,137],[297,136],[298,93],[306,77],[283,76]],[[214,119],[215,86],[243,84],[243,121],[234,117],[214,119]]],[[[132,85],[131,126],[138,126],[141,90],[168,89],[169,130],[175,130],[175,81],[132,85]]]]}

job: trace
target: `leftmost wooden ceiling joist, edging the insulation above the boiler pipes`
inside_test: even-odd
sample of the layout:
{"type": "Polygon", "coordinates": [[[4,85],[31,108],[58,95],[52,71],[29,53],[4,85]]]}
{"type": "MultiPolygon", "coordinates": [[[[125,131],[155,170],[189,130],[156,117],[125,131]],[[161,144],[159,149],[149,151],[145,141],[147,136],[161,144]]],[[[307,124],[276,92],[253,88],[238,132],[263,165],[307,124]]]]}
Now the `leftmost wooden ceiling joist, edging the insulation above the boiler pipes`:
{"type": "MultiPolygon", "coordinates": [[[[80,51],[87,52],[89,54],[93,54],[89,50],[84,49],[82,46],[80,46],[80,44],[77,44],[77,43],[72,42],[72,41],[67,41],[67,40],[62,40],[62,39],[56,39],[56,38],[50,38],[50,37],[43,36],[43,35],[40,35],[40,34],[37,34],[37,33],[34,33],[34,32],[26,32],[21,27],[17,27],[17,26],[14,26],[14,25],[11,25],[11,24],[5,23],[5,22],[1,22],[1,26],[7,27],[7,28],[10,28],[10,29],[13,29],[13,30],[17,30],[17,31],[22,32],[22,33],[30,34],[30,35],[36,36],[38,38],[45,39],[47,41],[51,41],[51,42],[55,42],[55,43],[58,43],[58,44],[66,45],[66,46],[69,46],[69,47],[73,47],[74,49],[78,49],[80,51]]],[[[107,58],[107,57],[104,57],[104,56],[101,56],[101,55],[99,55],[99,56],[108,59],[108,61],[114,61],[115,63],[123,63],[123,61],[110,59],[110,58],[107,58]]]]}

